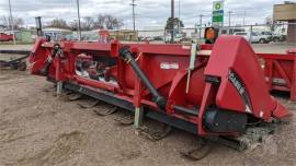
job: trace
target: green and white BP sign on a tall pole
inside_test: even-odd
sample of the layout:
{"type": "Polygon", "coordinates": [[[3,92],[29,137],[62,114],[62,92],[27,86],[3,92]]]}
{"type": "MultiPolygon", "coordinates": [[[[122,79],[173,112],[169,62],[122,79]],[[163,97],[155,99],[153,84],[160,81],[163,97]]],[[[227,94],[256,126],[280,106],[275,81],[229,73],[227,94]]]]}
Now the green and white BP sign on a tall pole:
{"type": "Polygon", "coordinates": [[[213,2],[213,26],[221,26],[224,22],[224,1],[213,2]]]}

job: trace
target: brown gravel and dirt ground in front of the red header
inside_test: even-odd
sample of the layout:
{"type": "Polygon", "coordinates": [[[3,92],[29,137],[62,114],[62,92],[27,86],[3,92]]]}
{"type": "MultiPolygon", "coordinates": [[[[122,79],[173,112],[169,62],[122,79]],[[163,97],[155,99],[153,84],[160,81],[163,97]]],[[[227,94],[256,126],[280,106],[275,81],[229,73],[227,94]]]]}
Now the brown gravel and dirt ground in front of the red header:
{"type": "MultiPolygon", "coordinates": [[[[192,162],[180,152],[197,147],[196,137],[174,129],[152,142],[135,134],[133,127],[116,124],[114,118],[122,112],[99,117],[77,102],[58,99],[52,87],[44,78],[0,70],[0,166],[296,165],[295,117],[254,150],[215,144],[208,156],[192,162]]],[[[296,104],[278,99],[296,110],[296,104]]]]}

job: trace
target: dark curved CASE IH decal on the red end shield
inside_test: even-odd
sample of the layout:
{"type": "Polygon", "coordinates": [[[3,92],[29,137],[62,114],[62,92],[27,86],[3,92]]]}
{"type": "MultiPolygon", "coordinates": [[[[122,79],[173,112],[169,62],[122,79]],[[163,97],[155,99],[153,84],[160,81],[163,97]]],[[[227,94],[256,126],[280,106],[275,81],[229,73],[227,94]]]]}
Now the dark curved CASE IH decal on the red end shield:
{"type": "Polygon", "coordinates": [[[249,94],[246,91],[244,84],[242,83],[240,78],[234,71],[230,70],[229,73],[228,73],[228,80],[236,87],[239,95],[243,99],[243,102],[246,104],[246,111],[251,114],[252,112],[252,107],[251,107],[250,97],[249,97],[249,94]]]}

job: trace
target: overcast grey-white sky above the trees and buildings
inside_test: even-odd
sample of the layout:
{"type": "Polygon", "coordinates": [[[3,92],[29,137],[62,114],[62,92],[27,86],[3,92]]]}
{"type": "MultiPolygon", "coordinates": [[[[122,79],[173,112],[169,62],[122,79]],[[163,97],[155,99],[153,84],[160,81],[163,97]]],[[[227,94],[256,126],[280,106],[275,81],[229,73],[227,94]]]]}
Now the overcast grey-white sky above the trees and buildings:
{"type": "MultiPolygon", "coordinates": [[[[9,0],[0,0],[0,15],[9,14],[9,0]]],[[[296,0],[291,0],[295,2],[296,0]]],[[[95,16],[107,13],[124,21],[125,28],[133,26],[132,0],[80,0],[81,16],[95,16]]],[[[136,24],[139,29],[145,26],[162,26],[170,16],[171,0],[135,0],[136,24]]],[[[26,25],[35,25],[35,16],[43,16],[43,22],[55,17],[73,21],[77,19],[76,0],[11,0],[14,16],[22,17],[26,25]]],[[[231,23],[242,24],[246,10],[246,24],[263,23],[272,16],[274,3],[283,0],[226,0],[225,12],[232,11],[231,23]]],[[[212,0],[180,0],[180,17],[186,27],[200,21],[210,21],[212,0]]],[[[175,15],[179,15],[179,0],[175,0],[175,15]]],[[[228,14],[225,21],[228,23],[228,14]]]]}

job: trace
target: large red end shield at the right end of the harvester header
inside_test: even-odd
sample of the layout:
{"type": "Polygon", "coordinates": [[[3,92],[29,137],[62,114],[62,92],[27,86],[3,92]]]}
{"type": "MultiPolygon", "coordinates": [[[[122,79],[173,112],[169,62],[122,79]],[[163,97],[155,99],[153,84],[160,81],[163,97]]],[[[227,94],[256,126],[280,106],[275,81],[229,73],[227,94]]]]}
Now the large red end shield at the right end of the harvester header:
{"type": "Polygon", "coordinates": [[[263,116],[261,115],[264,120],[269,120],[272,114],[271,110],[276,107],[276,102],[272,99],[267,92],[263,72],[261,71],[257,57],[253,55],[254,51],[244,39],[236,37],[219,38],[212,51],[205,74],[221,78],[221,84],[216,95],[217,106],[246,112],[243,100],[228,81],[228,69],[236,71],[236,73],[241,76],[240,79],[248,90],[252,114],[255,117],[260,117],[262,110],[270,110],[264,111],[263,116]],[[227,55],[227,58],[221,55],[227,55]],[[261,103],[257,100],[261,100],[261,103]]]}

